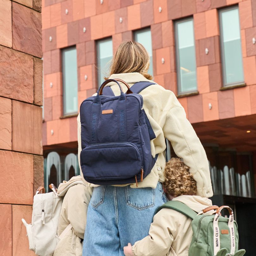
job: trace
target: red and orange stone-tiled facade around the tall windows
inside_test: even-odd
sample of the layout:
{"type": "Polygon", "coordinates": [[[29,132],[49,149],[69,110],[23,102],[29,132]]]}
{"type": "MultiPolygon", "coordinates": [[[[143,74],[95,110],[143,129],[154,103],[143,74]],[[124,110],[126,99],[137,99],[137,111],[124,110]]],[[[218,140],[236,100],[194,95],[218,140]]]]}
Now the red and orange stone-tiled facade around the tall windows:
{"type": "Polygon", "coordinates": [[[97,88],[95,40],[112,36],[113,51],[132,30],[151,27],[154,80],[177,94],[174,20],[194,19],[198,95],[179,98],[191,123],[256,113],[256,0],[44,0],[42,9],[45,123],[43,145],[76,140],[75,117],[62,116],[60,48],[76,45],[78,104],[97,88]],[[218,10],[239,6],[246,87],[221,91],[218,10]],[[159,12],[159,7],[162,12],[159,12]],[[68,14],[65,10],[68,10],[68,14]],[[119,22],[122,17],[123,22],[119,22]],[[83,33],[86,27],[86,33],[83,33]],[[52,36],[52,42],[49,37],[52,36]],[[205,54],[205,48],[209,54],[205,54]],[[162,64],[162,58],[165,59],[162,64]],[[84,80],[84,75],[88,80],[84,80]],[[49,86],[50,82],[53,87],[49,86]],[[208,105],[212,104],[210,110],[208,105]],[[75,126],[73,126],[75,125],[75,126]],[[72,127],[72,129],[70,129],[72,127]],[[66,129],[66,131],[64,131],[66,129]],[[54,134],[51,134],[54,130],[54,134]],[[60,132],[61,131],[61,132],[60,132]],[[63,137],[65,135],[65,137],[63,137]]]}

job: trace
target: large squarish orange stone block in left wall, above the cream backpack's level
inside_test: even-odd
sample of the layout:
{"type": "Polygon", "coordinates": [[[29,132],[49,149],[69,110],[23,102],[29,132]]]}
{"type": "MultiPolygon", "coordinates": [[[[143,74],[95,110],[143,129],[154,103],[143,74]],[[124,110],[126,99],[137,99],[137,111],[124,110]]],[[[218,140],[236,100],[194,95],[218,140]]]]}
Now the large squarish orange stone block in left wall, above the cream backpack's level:
{"type": "Polygon", "coordinates": [[[0,203],[33,204],[33,155],[0,150],[0,169],[0,203]]]}

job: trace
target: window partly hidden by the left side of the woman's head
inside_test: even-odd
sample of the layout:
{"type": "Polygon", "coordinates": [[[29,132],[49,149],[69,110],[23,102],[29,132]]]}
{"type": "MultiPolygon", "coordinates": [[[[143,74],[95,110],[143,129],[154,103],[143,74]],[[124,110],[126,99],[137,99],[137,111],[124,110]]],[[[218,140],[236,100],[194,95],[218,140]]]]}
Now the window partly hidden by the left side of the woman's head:
{"type": "Polygon", "coordinates": [[[103,39],[97,42],[97,66],[98,66],[98,85],[105,81],[104,76],[109,76],[110,61],[113,57],[112,39],[103,39]]]}

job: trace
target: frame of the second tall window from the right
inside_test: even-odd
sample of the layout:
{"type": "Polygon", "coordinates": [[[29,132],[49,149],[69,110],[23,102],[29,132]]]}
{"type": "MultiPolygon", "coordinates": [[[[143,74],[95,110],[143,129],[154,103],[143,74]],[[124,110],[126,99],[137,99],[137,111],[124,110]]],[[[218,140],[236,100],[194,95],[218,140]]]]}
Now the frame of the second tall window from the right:
{"type": "Polygon", "coordinates": [[[194,27],[194,18],[188,17],[180,20],[174,21],[174,40],[175,40],[175,58],[176,58],[176,74],[177,74],[177,93],[178,95],[183,94],[192,94],[198,92],[198,81],[197,88],[194,90],[181,91],[181,78],[180,78],[180,54],[179,54],[179,39],[178,39],[178,24],[181,22],[192,21],[193,22],[193,36],[194,36],[194,49],[195,49],[195,62],[196,62],[196,80],[197,80],[197,59],[196,59],[196,40],[195,40],[195,27],[194,27]]]}

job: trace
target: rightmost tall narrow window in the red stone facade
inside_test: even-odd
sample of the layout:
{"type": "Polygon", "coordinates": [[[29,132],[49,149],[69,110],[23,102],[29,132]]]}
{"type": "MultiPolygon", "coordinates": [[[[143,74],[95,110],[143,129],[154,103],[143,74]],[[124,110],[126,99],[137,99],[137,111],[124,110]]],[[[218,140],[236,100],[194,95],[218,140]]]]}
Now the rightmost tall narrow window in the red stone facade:
{"type": "Polygon", "coordinates": [[[244,82],[238,7],[219,11],[224,86],[244,82]]]}

